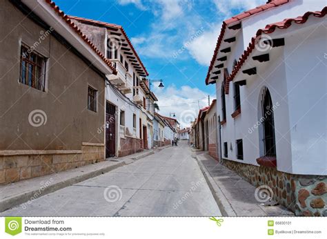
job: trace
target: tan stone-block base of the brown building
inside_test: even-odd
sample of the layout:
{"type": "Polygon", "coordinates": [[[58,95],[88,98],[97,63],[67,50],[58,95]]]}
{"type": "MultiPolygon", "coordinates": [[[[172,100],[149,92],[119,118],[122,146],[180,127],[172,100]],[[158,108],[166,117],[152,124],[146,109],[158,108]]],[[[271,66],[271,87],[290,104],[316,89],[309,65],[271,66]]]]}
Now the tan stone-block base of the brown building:
{"type": "Polygon", "coordinates": [[[104,145],[83,145],[81,151],[10,151],[0,155],[0,184],[18,182],[104,160],[104,145]]]}

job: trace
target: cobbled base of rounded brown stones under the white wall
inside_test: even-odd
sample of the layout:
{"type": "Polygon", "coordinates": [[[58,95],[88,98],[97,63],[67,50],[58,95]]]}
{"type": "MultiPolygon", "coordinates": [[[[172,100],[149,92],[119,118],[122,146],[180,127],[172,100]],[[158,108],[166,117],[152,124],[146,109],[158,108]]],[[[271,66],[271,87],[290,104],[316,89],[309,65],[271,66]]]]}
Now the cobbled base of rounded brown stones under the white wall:
{"type": "Polygon", "coordinates": [[[270,187],[273,199],[295,215],[327,216],[327,176],[295,175],[277,171],[276,168],[224,159],[222,162],[255,187],[270,187]]]}

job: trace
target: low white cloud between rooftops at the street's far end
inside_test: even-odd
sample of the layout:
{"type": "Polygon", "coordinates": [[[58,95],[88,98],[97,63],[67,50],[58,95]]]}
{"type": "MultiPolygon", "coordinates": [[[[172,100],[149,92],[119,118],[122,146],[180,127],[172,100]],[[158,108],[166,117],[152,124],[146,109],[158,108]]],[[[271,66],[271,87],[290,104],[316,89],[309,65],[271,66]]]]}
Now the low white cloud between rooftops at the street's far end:
{"type": "MultiPolygon", "coordinates": [[[[208,106],[208,93],[199,88],[177,88],[172,84],[165,88],[155,86],[154,92],[159,99],[159,114],[169,117],[170,113],[175,113],[175,118],[183,127],[190,126],[190,122],[197,117],[199,108],[208,106]]],[[[214,98],[214,95],[210,95],[210,101],[214,98]]]]}

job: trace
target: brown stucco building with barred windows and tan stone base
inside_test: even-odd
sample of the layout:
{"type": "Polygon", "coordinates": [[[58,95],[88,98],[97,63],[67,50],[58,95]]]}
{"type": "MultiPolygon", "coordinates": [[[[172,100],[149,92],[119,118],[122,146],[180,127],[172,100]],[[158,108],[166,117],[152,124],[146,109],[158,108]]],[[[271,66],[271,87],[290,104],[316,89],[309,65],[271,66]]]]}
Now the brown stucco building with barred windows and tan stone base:
{"type": "Polygon", "coordinates": [[[0,184],[104,160],[115,68],[50,1],[0,9],[0,184]]]}

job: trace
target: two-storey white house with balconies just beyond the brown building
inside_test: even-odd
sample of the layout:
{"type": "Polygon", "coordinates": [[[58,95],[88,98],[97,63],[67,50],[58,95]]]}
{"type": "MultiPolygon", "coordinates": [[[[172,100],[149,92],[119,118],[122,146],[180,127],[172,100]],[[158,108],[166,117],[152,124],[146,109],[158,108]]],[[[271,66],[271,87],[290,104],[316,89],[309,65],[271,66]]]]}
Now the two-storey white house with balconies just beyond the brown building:
{"type": "Polygon", "coordinates": [[[146,68],[122,26],[72,17],[81,31],[115,66],[106,87],[106,157],[126,156],[152,148],[154,93],[146,68]]]}

